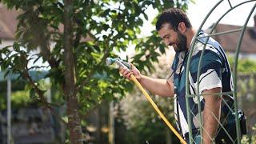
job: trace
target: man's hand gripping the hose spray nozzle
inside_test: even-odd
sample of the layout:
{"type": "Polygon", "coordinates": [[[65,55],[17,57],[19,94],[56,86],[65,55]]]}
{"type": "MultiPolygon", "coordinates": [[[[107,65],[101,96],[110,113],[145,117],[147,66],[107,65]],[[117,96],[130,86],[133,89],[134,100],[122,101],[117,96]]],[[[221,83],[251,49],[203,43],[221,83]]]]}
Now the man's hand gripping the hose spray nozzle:
{"type": "Polygon", "coordinates": [[[122,74],[122,76],[128,78],[129,80],[131,74],[134,74],[134,77],[138,81],[142,78],[140,71],[133,64],[131,64],[131,70],[129,70],[127,67],[120,67],[119,72],[122,74]]]}

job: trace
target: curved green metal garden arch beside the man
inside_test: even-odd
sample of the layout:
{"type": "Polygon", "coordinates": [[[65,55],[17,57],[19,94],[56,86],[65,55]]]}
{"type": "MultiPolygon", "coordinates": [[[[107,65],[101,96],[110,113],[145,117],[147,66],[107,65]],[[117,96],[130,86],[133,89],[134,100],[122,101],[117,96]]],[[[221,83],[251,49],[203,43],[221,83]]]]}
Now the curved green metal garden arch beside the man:
{"type": "MultiPolygon", "coordinates": [[[[216,9],[216,7],[219,6],[219,4],[221,4],[223,1],[225,0],[221,0],[219,1],[211,10],[210,12],[206,15],[206,18],[203,20],[201,26],[199,26],[198,28],[198,31],[196,32],[195,35],[198,35],[200,30],[202,29],[202,26],[205,24],[207,18],[209,18],[210,14],[212,14],[212,12],[216,9]]],[[[225,31],[225,32],[221,32],[221,33],[217,33],[217,34],[212,34],[215,27],[218,25],[218,22],[220,22],[222,20],[222,18],[224,18],[224,16],[226,16],[226,14],[228,14],[231,10],[234,10],[235,8],[237,8],[238,6],[241,6],[247,2],[255,2],[256,0],[248,0],[248,1],[245,1],[245,2],[241,2],[239,4],[237,4],[236,6],[232,6],[231,5],[231,2],[230,0],[227,0],[230,4],[230,9],[226,11],[225,14],[222,14],[222,16],[218,19],[218,21],[214,24],[214,26],[212,27],[212,29],[210,30],[210,33],[209,35],[207,36],[203,36],[203,37],[207,37],[206,38],[206,43],[209,41],[209,38],[210,36],[214,36],[214,35],[222,35],[222,34],[230,34],[230,33],[234,33],[234,32],[240,32],[240,36],[238,38],[238,45],[236,47],[236,52],[235,52],[235,62],[234,62],[234,73],[232,73],[232,78],[233,78],[233,81],[234,81],[234,90],[233,91],[230,91],[230,92],[222,92],[222,93],[219,93],[219,94],[214,94],[214,95],[222,95],[222,94],[233,94],[234,96],[234,114],[235,114],[235,118],[236,118],[236,130],[237,130],[237,135],[240,135],[240,124],[238,122],[238,103],[237,103],[237,66],[238,66],[238,54],[239,54],[239,51],[240,51],[240,46],[241,46],[241,43],[242,43],[242,38],[243,38],[243,35],[244,35],[244,32],[246,30],[246,26],[247,26],[247,23],[250,19],[250,16],[251,14],[254,12],[255,10],[255,7],[256,7],[256,3],[254,4],[252,10],[250,10],[250,14],[248,15],[248,17],[246,18],[246,22],[244,23],[244,25],[242,26],[242,29],[237,29],[237,30],[229,30],[229,31],[225,31]]],[[[190,46],[190,53],[189,53],[189,56],[188,56],[188,60],[187,60],[187,63],[186,63],[186,114],[187,114],[187,118],[188,118],[188,124],[189,124],[189,139],[190,139],[190,143],[193,142],[193,136],[192,136],[192,130],[191,130],[191,114],[190,114],[190,106],[189,106],[189,98],[190,97],[197,97],[198,98],[198,111],[201,111],[201,102],[199,101],[199,98],[200,96],[202,96],[203,94],[199,94],[199,76],[200,76],[200,71],[201,71],[201,68],[202,68],[202,55],[204,54],[204,51],[206,49],[206,45],[204,45],[203,47],[203,50],[202,50],[202,54],[200,56],[200,59],[199,59],[199,63],[198,63],[198,74],[197,74],[197,91],[196,91],[196,94],[190,94],[189,90],[190,90],[190,85],[189,85],[189,72],[190,72],[190,62],[191,62],[191,57],[192,57],[192,54],[193,54],[193,50],[194,50],[194,45],[195,45],[195,42],[197,41],[198,38],[203,38],[203,37],[194,37],[192,39],[192,43],[191,43],[191,46],[190,46]]],[[[207,94],[208,95],[208,94],[207,94]]],[[[229,107],[230,108],[230,107],[229,107]]],[[[231,108],[230,108],[231,110],[231,108]]],[[[232,110],[231,110],[232,111],[232,110]]],[[[233,112],[233,111],[232,111],[233,112]]],[[[202,114],[201,112],[199,112],[199,119],[200,119],[200,134],[202,136],[202,114]]],[[[220,122],[219,122],[220,123],[220,122]]],[[[221,125],[221,123],[220,123],[221,125]]],[[[222,125],[221,125],[222,126],[222,125]]],[[[225,129],[224,129],[225,130],[225,129]]],[[[226,130],[225,130],[226,131],[226,130]]],[[[227,133],[227,131],[226,131],[227,133]]],[[[228,134],[229,135],[229,134],[228,134]]],[[[230,137],[230,135],[229,135],[230,137]]],[[[202,142],[202,139],[201,139],[201,142],[202,142]]],[[[234,142],[234,141],[233,141],[234,142]]],[[[241,142],[241,139],[238,137],[238,143],[241,142]]]]}

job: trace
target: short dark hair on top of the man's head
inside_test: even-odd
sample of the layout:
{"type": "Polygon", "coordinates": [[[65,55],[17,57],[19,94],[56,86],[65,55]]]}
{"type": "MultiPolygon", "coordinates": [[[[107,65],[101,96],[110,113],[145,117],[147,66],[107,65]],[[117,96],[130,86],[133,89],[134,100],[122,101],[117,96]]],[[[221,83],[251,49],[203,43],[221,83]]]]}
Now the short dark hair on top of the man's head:
{"type": "Polygon", "coordinates": [[[170,26],[176,31],[178,30],[178,24],[184,22],[187,28],[191,27],[189,18],[187,18],[186,13],[177,8],[170,8],[164,10],[158,18],[156,24],[156,29],[159,31],[162,26],[166,23],[169,23],[170,26]]]}

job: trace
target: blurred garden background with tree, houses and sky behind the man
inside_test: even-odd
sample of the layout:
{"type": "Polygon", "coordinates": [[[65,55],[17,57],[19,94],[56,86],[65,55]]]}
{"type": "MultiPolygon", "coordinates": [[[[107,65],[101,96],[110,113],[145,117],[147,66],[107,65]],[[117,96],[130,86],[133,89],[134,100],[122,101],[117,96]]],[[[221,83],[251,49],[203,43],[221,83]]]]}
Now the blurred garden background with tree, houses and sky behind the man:
{"type": "MultiPolygon", "coordinates": [[[[0,1],[0,143],[70,143],[76,138],[74,123],[84,143],[179,143],[141,91],[116,66],[106,66],[105,58],[122,58],[142,74],[167,78],[174,50],[154,30],[159,12],[181,8],[198,29],[217,2],[0,1]],[[66,73],[69,69],[73,76],[66,73]]],[[[241,1],[230,2],[235,6],[241,1]]],[[[254,3],[232,10],[214,33],[241,28],[254,3]]],[[[202,29],[210,30],[229,6],[222,2],[202,29]]],[[[238,106],[246,113],[249,130],[243,143],[256,142],[255,14],[238,61],[238,106]]],[[[238,37],[214,37],[231,67],[238,37]]],[[[173,98],[150,96],[175,127],[173,98]]]]}

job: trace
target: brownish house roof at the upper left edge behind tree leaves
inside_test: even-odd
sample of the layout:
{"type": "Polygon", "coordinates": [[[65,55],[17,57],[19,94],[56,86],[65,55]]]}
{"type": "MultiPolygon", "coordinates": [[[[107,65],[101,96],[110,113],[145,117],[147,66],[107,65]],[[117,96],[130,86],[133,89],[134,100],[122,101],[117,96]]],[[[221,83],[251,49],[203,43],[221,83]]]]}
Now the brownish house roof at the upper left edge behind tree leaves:
{"type": "Polygon", "coordinates": [[[15,38],[18,14],[17,10],[7,10],[6,6],[0,4],[0,39],[15,38]]]}

